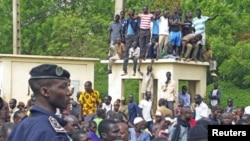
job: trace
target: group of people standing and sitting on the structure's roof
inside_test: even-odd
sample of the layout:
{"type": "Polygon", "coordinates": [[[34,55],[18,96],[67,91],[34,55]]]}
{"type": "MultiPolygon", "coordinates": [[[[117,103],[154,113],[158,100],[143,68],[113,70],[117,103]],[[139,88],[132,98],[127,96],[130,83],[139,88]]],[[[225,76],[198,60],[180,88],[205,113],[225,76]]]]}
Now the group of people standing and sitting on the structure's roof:
{"type": "Polygon", "coordinates": [[[209,43],[206,43],[205,24],[213,17],[201,15],[197,9],[196,17],[192,12],[183,12],[174,7],[170,13],[168,8],[135,15],[134,10],[121,11],[109,26],[108,74],[112,73],[115,60],[123,60],[122,76],[128,74],[127,65],[133,60],[133,73],[141,72],[140,66],[145,59],[175,59],[184,61],[207,61],[212,76],[217,76],[217,62],[212,54],[209,43]]]}

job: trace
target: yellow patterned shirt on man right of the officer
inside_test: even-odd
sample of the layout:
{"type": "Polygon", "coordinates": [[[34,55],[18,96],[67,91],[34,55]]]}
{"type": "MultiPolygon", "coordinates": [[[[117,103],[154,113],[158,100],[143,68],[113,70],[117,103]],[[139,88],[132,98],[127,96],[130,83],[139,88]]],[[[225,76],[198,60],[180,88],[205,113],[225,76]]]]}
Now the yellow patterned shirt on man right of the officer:
{"type": "Polygon", "coordinates": [[[78,101],[84,109],[84,116],[95,113],[97,109],[97,104],[100,104],[102,102],[100,94],[96,90],[93,90],[92,93],[82,92],[78,101]]]}

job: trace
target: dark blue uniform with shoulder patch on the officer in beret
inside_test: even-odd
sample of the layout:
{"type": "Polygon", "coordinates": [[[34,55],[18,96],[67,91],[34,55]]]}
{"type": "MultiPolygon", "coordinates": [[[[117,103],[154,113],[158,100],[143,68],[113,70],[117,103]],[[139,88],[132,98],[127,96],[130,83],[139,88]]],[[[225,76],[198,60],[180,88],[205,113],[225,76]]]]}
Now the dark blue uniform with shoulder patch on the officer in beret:
{"type": "Polygon", "coordinates": [[[30,112],[30,116],[12,130],[7,141],[71,141],[63,128],[64,120],[37,106],[30,112]]]}

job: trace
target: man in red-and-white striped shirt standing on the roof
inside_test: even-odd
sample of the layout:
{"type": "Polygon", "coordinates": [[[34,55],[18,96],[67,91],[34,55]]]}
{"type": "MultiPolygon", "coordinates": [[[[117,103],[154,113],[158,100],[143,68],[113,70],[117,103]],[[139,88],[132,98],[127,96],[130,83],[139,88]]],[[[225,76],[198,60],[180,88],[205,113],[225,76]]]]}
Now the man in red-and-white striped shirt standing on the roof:
{"type": "Polygon", "coordinates": [[[138,65],[138,71],[140,72],[140,64],[142,59],[146,58],[147,45],[150,42],[150,24],[154,19],[153,14],[148,12],[148,7],[143,7],[143,13],[140,13],[138,17],[140,19],[140,31],[139,31],[139,46],[140,46],[140,60],[138,65]]]}

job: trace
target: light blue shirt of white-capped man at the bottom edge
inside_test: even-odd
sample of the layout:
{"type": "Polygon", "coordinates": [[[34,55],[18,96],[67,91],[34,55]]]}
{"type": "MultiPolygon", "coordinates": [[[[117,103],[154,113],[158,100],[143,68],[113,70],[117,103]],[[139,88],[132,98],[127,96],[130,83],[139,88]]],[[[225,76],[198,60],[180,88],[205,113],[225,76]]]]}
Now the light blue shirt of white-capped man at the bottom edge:
{"type": "Polygon", "coordinates": [[[135,129],[129,128],[130,138],[131,141],[150,141],[150,136],[147,132],[141,131],[139,137],[136,136],[135,129]]]}

